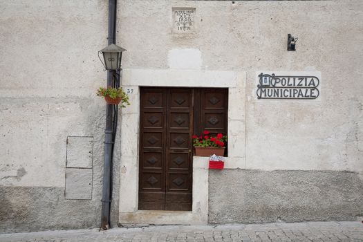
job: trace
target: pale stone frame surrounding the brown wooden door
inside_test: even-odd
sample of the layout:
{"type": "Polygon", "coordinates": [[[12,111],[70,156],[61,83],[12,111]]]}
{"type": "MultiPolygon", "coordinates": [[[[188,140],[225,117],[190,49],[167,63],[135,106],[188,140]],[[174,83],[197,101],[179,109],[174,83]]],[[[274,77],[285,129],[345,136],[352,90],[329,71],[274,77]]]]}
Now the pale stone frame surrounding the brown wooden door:
{"type": "MultiPolygon", "coordinates": [[[[244,132],[245,72],[194,71],[175,69],[124,69],[122,86],[129,93],[131,105],[121,112],[121,163],[119,223],[205,225],[208,222],[207,158],[193,158],[192,211],[138,210],[138,174],[140,127],[140,86],[228,88],[228,139],[237,139],[237,129],[244,132]],[[235,123],[237,122],[237,123],[235,123]],[[231,131],[234,132],[231,132],[231,131]]],[[[238,131],[238,130],[237,130],[238,131]]],[[[241,140],[241,137],[239,137],[241,140]]],[[[244,140],[244,138],[243,138],[244,140]]],[[[230,143],[232,143],[230,142],[230,143]]],[[[244,144],[243,144],[244,147],[244,144]]],[[[244,151],[243,151],[244,152],[244,151]]],[[[243,168],[241,147],[229,147],[226,168],[243,168]]]]}

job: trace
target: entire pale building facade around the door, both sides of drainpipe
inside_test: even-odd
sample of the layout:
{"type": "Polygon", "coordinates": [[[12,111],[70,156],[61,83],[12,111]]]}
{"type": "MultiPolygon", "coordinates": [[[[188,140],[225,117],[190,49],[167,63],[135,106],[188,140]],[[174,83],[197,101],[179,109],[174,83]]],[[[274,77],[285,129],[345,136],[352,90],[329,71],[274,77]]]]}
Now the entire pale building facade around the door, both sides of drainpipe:
{"type": "MultiPolygon", "coordinates": [[[[108,3],[0,8],[0,231],[97,227],[108,3]]],[[[124,0],[117,16],[131,105],[119,113],[111,225],[362,219],[362,1],[124,0]],[[269,94],[261,73],[281,91],[269,94]],[[225,169],[190,154],[191,209],[139,210],[142,95],[184,90],[196,110],[197,89],[226,90],[225,169]]]]}

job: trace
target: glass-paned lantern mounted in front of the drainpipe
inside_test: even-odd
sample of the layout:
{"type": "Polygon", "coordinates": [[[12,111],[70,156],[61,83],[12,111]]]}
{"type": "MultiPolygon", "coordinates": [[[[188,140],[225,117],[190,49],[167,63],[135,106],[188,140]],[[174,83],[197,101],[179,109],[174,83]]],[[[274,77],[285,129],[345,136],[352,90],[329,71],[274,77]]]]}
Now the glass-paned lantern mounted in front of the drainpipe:
{"type": "Polygon", "coordinates": [[[110,44],[98,52],[98,57],[100,58],[100,53],[102,53],[104,62],[101,58],[100,61],[106,70],[120,70],[123,51],[125,51],[124,48],[110,44]]]}

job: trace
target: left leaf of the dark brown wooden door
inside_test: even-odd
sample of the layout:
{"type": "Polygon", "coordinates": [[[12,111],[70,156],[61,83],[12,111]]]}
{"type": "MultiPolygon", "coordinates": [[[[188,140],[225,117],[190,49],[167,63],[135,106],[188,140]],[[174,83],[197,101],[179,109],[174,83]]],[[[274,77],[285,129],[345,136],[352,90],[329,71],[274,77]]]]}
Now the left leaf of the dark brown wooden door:
{"type": "Polygon", "coordinates": [[[166,93],[142,89],[140,96],[140,210],[165,210],[166,93]]]}

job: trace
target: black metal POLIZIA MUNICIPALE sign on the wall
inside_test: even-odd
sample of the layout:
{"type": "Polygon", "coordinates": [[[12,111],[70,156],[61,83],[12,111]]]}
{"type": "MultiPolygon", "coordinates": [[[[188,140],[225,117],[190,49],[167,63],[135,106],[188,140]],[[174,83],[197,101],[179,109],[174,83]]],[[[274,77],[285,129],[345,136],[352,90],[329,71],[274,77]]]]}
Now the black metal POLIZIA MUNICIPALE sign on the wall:
{"type": "Polygon", "coordinates": [[[258,99],[316,99],[320,80],[315,76],[259,75],[258,99]]]}

